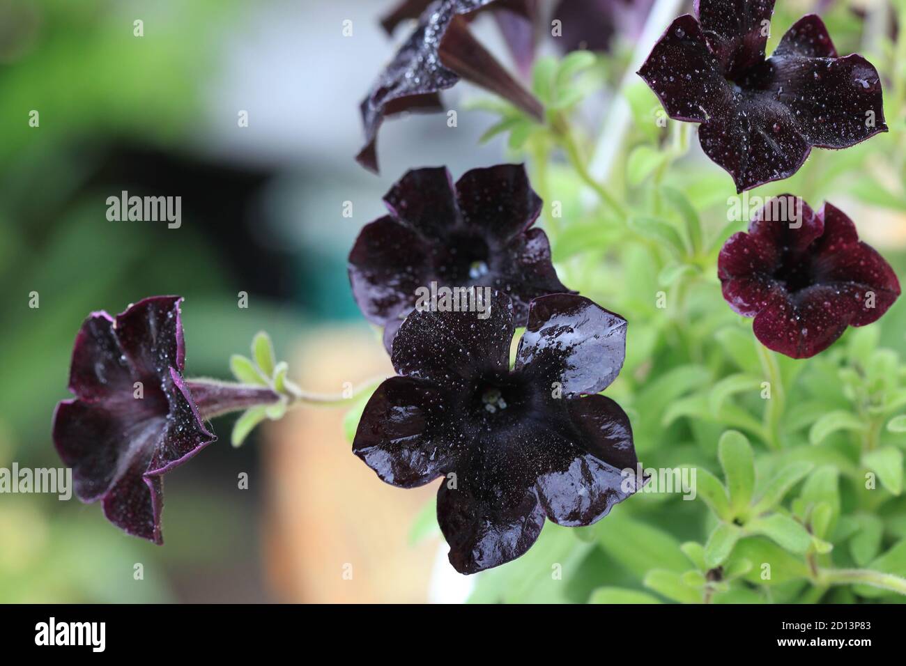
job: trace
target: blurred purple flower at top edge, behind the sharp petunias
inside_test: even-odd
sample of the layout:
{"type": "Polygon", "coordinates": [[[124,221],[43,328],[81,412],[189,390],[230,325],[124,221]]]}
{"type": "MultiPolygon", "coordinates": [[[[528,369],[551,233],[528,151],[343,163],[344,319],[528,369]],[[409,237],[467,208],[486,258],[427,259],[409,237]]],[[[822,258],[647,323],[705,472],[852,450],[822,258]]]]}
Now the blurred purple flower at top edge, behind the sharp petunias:
{"type": "Polygon", "coordinates": [[[615,35],[636,38],[653,0],[560,0],[553,18],[563,34],[554,43],[564,53],[587,49],[609,51],[615,35]]]}

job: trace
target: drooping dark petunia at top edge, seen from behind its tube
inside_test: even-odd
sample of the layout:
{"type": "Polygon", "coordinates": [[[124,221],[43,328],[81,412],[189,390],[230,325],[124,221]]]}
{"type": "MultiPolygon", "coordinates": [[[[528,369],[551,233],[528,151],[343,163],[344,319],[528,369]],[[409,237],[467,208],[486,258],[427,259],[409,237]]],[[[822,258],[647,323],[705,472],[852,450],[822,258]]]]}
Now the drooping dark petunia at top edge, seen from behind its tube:
{"type": "MultiPolygon", "coordinates": [[[[359,163],[378,170],[375,141],[384,118],[403,111],[441,110],[438,92],[454,86],[460,77],[496,92],[540,120],[541,104],[472,37],[467,27],[467,19],[484,9],[493,7],[518,15],[529,11],[531,5],[525,0],[439,0],[429,5],[420,15],[415,32],[361,102],[365,145],[356,156],[359,163]]],[[[385,27],[392,27],[418,6],[404,5],[385,19],[385,27]]]]}

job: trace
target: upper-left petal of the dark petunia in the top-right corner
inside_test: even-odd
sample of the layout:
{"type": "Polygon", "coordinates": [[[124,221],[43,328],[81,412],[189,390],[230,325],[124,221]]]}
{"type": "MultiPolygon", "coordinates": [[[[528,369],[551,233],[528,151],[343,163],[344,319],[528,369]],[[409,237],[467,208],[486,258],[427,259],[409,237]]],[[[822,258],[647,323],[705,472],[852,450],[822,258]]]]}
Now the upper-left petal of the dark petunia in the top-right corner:
{"type": "Polygon", "coordinates": [[[638,73],[678,121],[704,122],[733,103],[720,64],[691,14],[670,24],[638,73]]]}

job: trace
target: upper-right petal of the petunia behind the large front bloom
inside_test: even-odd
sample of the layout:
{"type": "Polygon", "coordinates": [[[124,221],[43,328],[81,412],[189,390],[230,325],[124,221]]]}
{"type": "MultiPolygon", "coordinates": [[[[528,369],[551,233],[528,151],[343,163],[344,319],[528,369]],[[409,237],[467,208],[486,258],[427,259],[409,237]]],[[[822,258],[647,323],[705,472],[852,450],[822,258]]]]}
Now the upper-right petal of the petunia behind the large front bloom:
{"type": "Polygon", "coordinates": [[[471,169],[458,180],[456,192],[465,224],[501,243],[531,227],[541,214],[541,198],[522,164],[471,169]]]}

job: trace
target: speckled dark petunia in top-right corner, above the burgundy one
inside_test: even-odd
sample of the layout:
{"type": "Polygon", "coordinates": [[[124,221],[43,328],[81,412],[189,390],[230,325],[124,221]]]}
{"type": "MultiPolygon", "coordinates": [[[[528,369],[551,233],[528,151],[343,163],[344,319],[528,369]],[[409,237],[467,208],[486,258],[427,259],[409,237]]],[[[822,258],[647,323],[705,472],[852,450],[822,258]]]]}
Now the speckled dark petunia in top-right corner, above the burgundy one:
{"type": "Polygon", "coordinates": [[[700,122],[702,150],[737,192],[792,176],[813,147],[848,148],[886,131],[881,79],[861,55],[837,57],[814,14],[765,58],[774,0],[696,0],[639,74],[670,118],[700,122]]]}

